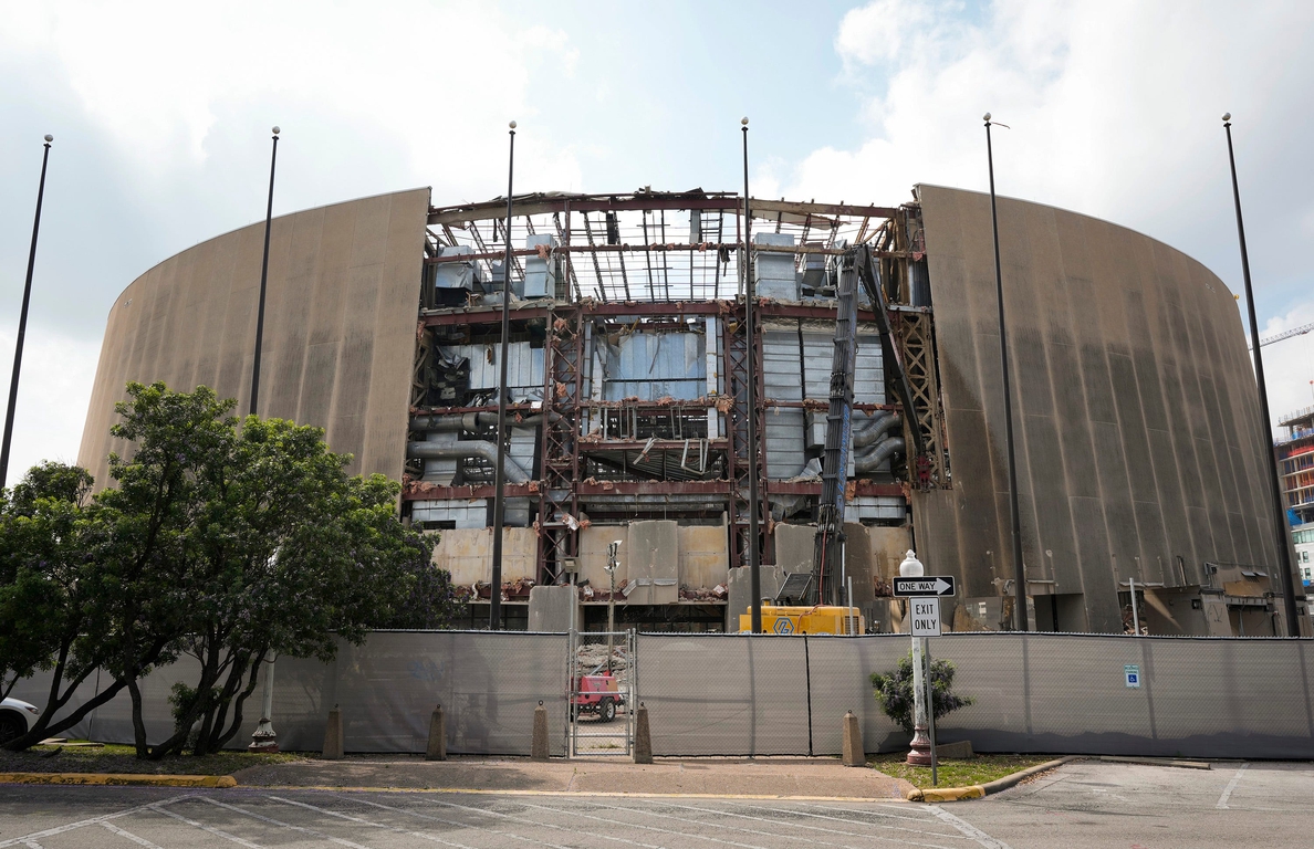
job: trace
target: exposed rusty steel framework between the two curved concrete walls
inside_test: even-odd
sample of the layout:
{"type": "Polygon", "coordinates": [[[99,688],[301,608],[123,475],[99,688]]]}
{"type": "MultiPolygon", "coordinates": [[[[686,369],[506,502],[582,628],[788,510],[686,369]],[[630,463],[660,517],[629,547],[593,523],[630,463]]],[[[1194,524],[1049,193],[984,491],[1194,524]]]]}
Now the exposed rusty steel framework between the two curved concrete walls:
{"type": "MultiPolygon", "coordinates": [[[[486,277],[499,279],[498,260],[505,252],[506,198],[484,204],[432,208],[428,214],[426,281],[444,263],[478,264],[486,277]],[[453,252],[459,248],[460,252],[453,252]]],[[[792,247],[754,243],[752,255],[787,252],[796,262],[811,255],[838,258],[854,244],[863,244],[890,275],[890,292],[901,305],[887,305],[880,322],[899,325],[899,309],[907,306],[908,265],[912,260],[907,237],[908,209],[766,201],[750,204],[754,233],[788,234],[792,247]],[[899,226],[896,226],[896,222],[899,226]]],[[[511,280],[526,279],[531,259],[556,263],[556,297],[522,300],[510,309],[511,339],[532,340],[543,347],[544,386],[541,401],[512,403],[515,419],[543,415],[539,463],[528,482],[507,484],[507,498],[531,499],[537,530],[537,580],[552,580],[573,570],[579,555],[579,528],[590,519],[627,519],[650,515],[678,518],[720,516],[728,524],[731,566],[748,562],[749,526],[757,511],[758,545],[763,562],[774,562],[771,534],[773,497],[803,495],[816,502],[820,481],[771,480],[766,452],[749,446],[748,357],[756,357],[758,434],[765,432],[771,410],[808,407],[807,401],[767,397],[763,381],[761,327],[773,319],[836,319],[836,301],[799,301],[759,297],[756,304],[757,339],[745,333],[745,300],[741,262],[745,231],[742,198],[735,193],[692,191],[631,195],[526,195],[514,198],[511,242],[527,244],[530,237],[553,237],[548,244],[515,247],[511,280]],[[597,334],[635,330],[706,329],[710,361],[724,369],[711,381],[714,389],[698,398],[604,400],[586,389],[589,339],[597,334]],[[711,329],[716,333],[712,334],[711,329]],[[698,460],[690,460],[696,442],[698,460]],[[754,468],[756,467],[756,468],[754,468]],[[759,495],[750,503],[749,478],[757,476],[759,495]],[[594,509],[585,518],[582,498],[629,497],[624,506],[594,509]]],[[[911,208],[916,218],[916,206],[911,208]]],[[[544,239],[539,239],[543,242],[544,239]]],[[[750,264],[752,268],[752,264],[750,264]]],[[[499,305],[472,294],[461,304],[438,304],[426,285],[417,327],[417,361],[413,415],[465,415],[491,411],[489,403],[442,406],[426,388],[430,363],[442,344],[456,340],[486,340],[495,335],[499,305]]],[[[499,297],[498,297],[499,300],[499,297]]],[[[858,321],[872,322],[870,305],[858,310],[858,321]]],[[[934,389],[929,309],[913,313],[917,330],[903,333],[916,348],[918,381],[913,393],[918,405],[912,419],[924,431],[938,432],[938,397],[934,389]],[[929,359],[928,359],[929,357],[929,359]]],[[[887,376],[888,380],[888,376],[887,376]]],[[[900,375],[900,380],[903,376],[900,375]]],[[[901,410],[900,393],[890,393],[884,405],[859,403],[872,413],[901,410]]],[[[909,439],[909,444],[915,440],[909,439]]],[[[849,495],[905,495],[909,482],[947,485],[945,460],[938,446],[933,459],[909,461],[904,480],[862,480],[850,484],[849,495]],[[917,469],[922,470],[920,478],[917,469]]],[[[493,494],[487,482],[456,486],[419,480],[420,468],[409,469],[405,501],[478,499],[493,494]]],[[[779,476],[778,476],[779,477],[779,476]]]]}

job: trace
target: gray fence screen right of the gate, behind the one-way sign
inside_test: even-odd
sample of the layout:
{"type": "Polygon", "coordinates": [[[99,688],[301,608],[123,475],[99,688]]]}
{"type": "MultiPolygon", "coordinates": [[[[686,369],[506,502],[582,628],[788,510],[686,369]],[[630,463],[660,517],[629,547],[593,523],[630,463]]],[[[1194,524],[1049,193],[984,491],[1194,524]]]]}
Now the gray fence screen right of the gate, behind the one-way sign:
{"type": "MultiPolygon", "coordinates": [[[[980,752],[1314,757],[1314,644],[1062,633],[954,633],[929,640],[976,703],[946,716],[943,743],[980,752]],[[1139,687],[1129,687],[1126,666],[1139,687]]],[[[654,754],[838,754],[858,715],[869,752],[907,745],[870,677],[905,635],[643,635],[640,698],[654,754]]]]}

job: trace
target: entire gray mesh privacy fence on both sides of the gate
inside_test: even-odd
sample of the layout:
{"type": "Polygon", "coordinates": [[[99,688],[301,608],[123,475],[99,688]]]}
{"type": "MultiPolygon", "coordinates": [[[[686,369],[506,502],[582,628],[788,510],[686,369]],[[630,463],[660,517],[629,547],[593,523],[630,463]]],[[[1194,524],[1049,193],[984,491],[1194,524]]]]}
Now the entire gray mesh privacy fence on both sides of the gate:
{"type": "MultiPolygon", "coordinates": [[[[871,693],[909,637],[640,635],[639,700],[654,754],[838,754],[841,718],[862,722],[869,752],[907,745],[871,693]]],[[[976,703],[947,718],[941,741],[982,752],[1314,758],[1314,641],[954,633],[930,640],[958,669],[955,690],[976,703]],[[1141,686],[1126,686],[1125,666],[1141,686]]],[[[564,633],[390,632],[343,645],[332,664],[284,658],[275,676],[275,728],[285,749],[318,750],[328,710],[343,712],[348,752],[423,752],[435,703],[448,750],[528,754],[533,707],[548,708],[552,754],[565,754],[564,633]]],[[[191,661],[143,682],[151,741],[171,731],[167,697],[194,682],[191,661]]],[[[104,683],[104,681],[101,681],[104,683]]],[[[79,697],[96,693],[88,681],[79,697]]],[[[41,706],[49,679],[14,690],[41,706]]],[[[67,732],[131,743],[121,693],[67,732]]],[[[244,746],[260,690],[230,745],[244,746]]]]}

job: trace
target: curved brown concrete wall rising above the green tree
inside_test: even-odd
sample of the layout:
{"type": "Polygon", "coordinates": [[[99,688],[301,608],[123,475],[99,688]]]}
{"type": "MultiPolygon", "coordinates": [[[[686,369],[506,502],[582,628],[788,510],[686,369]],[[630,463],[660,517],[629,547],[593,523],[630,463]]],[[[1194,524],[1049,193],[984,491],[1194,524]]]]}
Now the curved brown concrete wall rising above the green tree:
{"type": "MultiPolygon", "coordinates": [[[[430,191],[273,219],[260,368],[261,417],[323,427],[350,472],[401,478],[430,191]]],[[[151,268],[109,311],[80,465],[108,484],[114,402],[130,380],[251,398],[264,222],[151,268]]]]}

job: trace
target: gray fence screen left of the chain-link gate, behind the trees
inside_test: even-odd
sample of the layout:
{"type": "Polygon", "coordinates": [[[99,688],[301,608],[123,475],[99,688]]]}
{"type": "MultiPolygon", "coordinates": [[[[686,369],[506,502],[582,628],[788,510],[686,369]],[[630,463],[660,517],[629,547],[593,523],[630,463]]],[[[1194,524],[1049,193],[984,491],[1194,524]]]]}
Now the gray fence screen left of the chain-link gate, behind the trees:
{"type": "MultiPolygon", "coordinates": [[[[564,633],[376,631],[364,645],[342,644],[331,664],[285,657],[275,666],[273,727],[286,750],[319,750],[328,710],[336,704],[347,752],[423,752],[434,706],[442,704],[448,752],[527,756],[539,700],[548,708],[551,753],[566,750],[564,633]]],[[[197,670],[194,660],[183,658],[142,682],[151,743],[172,731],[168,694],[173,682],[194,685],[197,670]]],[[[49,676],[37,676],[20,682],[13,695],[42,706],[49,686],[49,676]]],[[[96,687],[93,676],[74,702],[89,699],[96,687]]],[[[261,691],[258,685],[247,699],[243,727],[230,746],[244,748],[251,741],[261,691]]],[[[127,691],[63,733],[131,743],[127,691]]]]}

